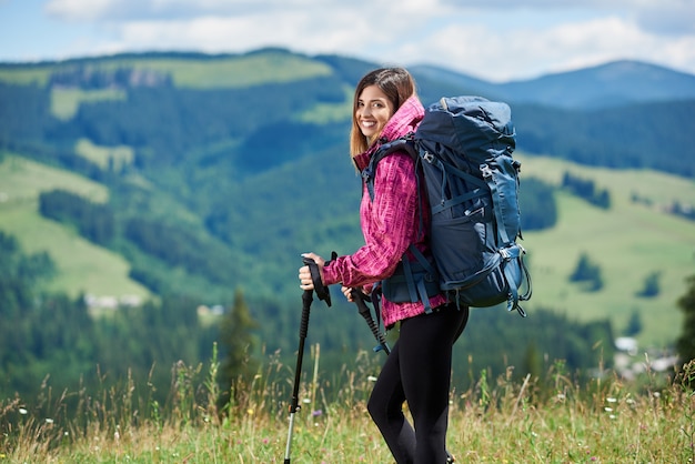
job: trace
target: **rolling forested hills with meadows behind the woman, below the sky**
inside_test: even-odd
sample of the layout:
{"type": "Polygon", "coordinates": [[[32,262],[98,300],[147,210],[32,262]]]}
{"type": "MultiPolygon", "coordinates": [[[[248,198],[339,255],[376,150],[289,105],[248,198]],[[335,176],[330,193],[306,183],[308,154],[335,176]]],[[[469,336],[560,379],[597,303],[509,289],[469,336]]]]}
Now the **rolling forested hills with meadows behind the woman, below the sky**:
{"type": "MultiPolygon", "coordinates": [[[[290,355],[301,307],[300,253],[350,253],[361,243],[361,181],[348,159],[348,132],[352,89],[374,67],[275,49],[0,64],[0,231],[13,256],[2,261],[0,320],[4,327],[24,321],[14,335],[49,343],[43,330],[64,326],[62,317],[74,312],[69,317],[81,321],[84,339],[57,341],[48,357],[37,344],[2,339],[0,367],[16,373],[2,389],[31,386],[17,383],[18,366],[30,364],[36,372],[24,379],[34,383],[61,356],[72,356],[66,376],[100,361],[124,375],[125,364],[108,353],[121,352],[119,343],[130,336],[160,340],[155,350],[129,345],[128,362],[141,375],[152,362],[194,363],[220,339],[219,319],[199,325],[197,309],[220,305],[229,314],[238,292],[259,322],[249,329],[252,350],[290,355]],[[114,316],[84,306],[85,295],[132,293],[142,315],[138,304],[121,304],[114,316]],[[42,303],[52,301],[59,303],[50,310],[42,303]],[[177,344],[182,339],[185,346],[177,344]]],[[[672,87],[659,99],[635,92],[601,110],[554,107],[538,88],[537,100],[528,101],[521,98],[527,87],[514,93],[514,85],[443,71],[414,73],[423,102],[504,95],[523,159],[532,319],[477,313],[477,329],[461,344],[462,353],[475,353],[469,369],[501,370],[505,360],[537,369],[538,354],[584,369],[598,363],[592,346],[603,344],[607,359],[621,334],[669,345],[695,251],[687,213],[695,144],[683,130],[695,100],[672,87]],[[643,183],[641,173],[658,175],[643,183]],[[628,333],[635,319],[647,329],[628,333]],[[654,327],[664,321],[669,331],[654,327]],[[492,340],[498,343],[485,345],[492,340]]],[[[593,89],[594,98],[608,99],[615,85],[593,89]]],[[[354,307],[334,300],[331,309],[316,303],[311,329],[326,362],[340,366],[372,341],[354,307]]]]}

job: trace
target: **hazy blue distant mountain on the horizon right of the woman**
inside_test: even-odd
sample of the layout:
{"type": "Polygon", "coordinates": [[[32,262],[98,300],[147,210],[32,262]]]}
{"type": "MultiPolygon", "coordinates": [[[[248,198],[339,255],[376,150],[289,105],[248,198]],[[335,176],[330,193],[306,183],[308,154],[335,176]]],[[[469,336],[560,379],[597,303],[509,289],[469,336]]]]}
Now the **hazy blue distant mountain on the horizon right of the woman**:
{"type": "Polygon", "coordinates": [[[437,80],[512,103],[596,110],[677,100],[695,100],[695,75],[639,61],[615,61],[537,79],[493,83],[436,67],[415,65],[419,79],[437,80]]]}

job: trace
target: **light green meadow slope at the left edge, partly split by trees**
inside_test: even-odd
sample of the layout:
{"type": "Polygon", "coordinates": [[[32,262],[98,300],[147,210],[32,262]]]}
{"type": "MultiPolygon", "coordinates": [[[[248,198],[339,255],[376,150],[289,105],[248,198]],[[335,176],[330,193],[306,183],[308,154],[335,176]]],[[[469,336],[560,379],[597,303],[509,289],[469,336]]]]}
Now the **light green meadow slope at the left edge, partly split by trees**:
{"type": "Polygon", "coordinates": [[[130,266],[122,256],[39,214],[40,192],[52,189],[64,189],[97,202],[108,199],[103,185],[63,170],[12,155],[0,163],[0,230],[17,236],[27,253],[49,252],[58,275],[48,290],[66,291],[73,296],[81,292],[98,296],[149,295],[128,278],[130,266]]]}

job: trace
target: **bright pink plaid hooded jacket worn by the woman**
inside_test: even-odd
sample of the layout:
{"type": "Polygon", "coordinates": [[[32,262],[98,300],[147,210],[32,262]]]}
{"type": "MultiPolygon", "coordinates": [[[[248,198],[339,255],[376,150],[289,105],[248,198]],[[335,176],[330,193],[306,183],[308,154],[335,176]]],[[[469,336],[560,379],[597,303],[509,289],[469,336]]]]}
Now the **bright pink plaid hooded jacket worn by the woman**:
{"type": "MultiPolygon", "coordinates": [[[[416,97],[406,100],[386,123],[380,141],[354,158],[357,169],[362,171],[367,167],[381,143],[413,132],[423,114],[424,109],[416,97]]],[[[331,261],[323,269],[324,283],[371,288],[373,283],[395,271],[411,243],[415,243],[415,246],[427,256],[430,254],[425,241],[427,228],[421,230],[417,201],[417,179],[413,160],[407,153],[393,153],[381,160],[374,178],[374,201],[372,202],[365,190],[360,206],[364,245],[353,254],[331,261]]],[[[425,218],[426,220],[429,218],[425,218]]],[[[445,302],[446,296],[443,294],[430,299],[432,307],[445,302]]],[[[382,303],[381,315],[386,327],[403,319],[424,313],[422,302],[393,303],[384,299],[382,303]]]]}

